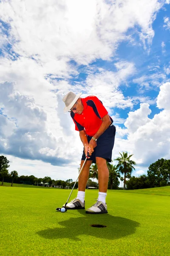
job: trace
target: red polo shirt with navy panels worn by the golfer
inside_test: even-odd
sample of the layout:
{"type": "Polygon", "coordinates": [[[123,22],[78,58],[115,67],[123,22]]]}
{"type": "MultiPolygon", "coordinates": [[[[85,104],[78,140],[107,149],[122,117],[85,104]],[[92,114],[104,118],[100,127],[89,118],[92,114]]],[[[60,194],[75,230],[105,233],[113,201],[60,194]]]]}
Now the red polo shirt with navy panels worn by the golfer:
{"type": "MultiPolygon", "coordinates": [[[[88,96],[81,98],[81,100],[84,108],[82,113],[79,115],[71,112],[71,117],[75,123],[76,131],[85,129],[86,134],[92,137],[99,130],[102,124],[101,119],[108,114],[108,111],[96,96],[88,96]]],[[[112,119],[111,122],[113,122],[112,119]]]]}

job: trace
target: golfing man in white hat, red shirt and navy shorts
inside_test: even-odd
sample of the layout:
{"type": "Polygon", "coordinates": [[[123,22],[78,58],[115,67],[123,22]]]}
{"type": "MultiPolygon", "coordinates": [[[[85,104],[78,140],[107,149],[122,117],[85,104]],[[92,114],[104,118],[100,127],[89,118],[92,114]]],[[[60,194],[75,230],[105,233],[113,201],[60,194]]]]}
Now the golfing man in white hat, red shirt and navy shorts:
{"type": "Polygon", "coordinates": [[[116,128],[108,111],[96,96],[80,98],[82,93],[76,95],[69,92],[62,99],[65,102],[64,112],[71,112],[75,128],[84,145],[80,168],[85,157],[89,157],[79,175],[77,198],[67,204],[67,209],[85,209],[85,188],[89,177],[91,163],[97,164],[99,180],[99,196],[97,202],[86,210],[86,213],[107,213],[106,195],[108,189],[109,171],[106,161],[111,162],[112,149],[116,128]]]}

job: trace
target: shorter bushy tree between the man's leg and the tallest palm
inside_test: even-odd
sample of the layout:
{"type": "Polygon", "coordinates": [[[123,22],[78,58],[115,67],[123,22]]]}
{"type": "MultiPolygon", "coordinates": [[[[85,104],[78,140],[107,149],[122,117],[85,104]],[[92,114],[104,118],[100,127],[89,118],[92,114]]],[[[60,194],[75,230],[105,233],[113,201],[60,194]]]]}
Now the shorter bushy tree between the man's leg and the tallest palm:
{"type": "Polygon", "coordinates": [[[111,163],[107,162],[108,170],[109,170],[109,184],[110,189],[117,189],[120,182],[119,182],[119,177],[120,174],[116,168],[116,165],[113,165],[111,163]]]}

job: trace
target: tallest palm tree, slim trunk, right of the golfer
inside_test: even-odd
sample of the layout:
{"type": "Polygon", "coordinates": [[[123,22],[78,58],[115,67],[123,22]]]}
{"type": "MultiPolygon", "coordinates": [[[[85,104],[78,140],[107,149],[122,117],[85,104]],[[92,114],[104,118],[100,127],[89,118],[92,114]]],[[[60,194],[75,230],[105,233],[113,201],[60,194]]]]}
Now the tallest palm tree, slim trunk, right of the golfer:
{"type": "Polygon", "coordinates": [[[119,152],[119,154],[121,155],[121,157],[117,157],[115,159],[115,161],[118,161],[118,164],[116,165],[116,167],[117,167],[117,169],[119,169],[119,172],[124,174],[123,189],[126,189],[126,174],[127,173],[131,174],[133,169],[135,170],[133,165],[136,165],[136,163],[133,160],[130,160],[130,157],[132,157],[133,154],[129,155],[129,156],[127,155],[127,152],[123,152],[122,154],[119,152]]]}

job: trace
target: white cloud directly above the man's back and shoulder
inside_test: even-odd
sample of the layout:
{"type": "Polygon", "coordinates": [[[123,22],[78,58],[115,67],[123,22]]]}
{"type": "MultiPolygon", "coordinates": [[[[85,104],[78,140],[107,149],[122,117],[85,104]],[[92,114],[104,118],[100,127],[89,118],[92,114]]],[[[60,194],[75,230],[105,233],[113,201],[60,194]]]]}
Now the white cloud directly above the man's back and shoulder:
{"type": "Polygon", "coordinates": [[[135,67],[132,63],[120,61],[116,63],[116,68],[117,72],[101,71],[95,75],[89,75],[86,79],[86,92],[102,99],[107,109],[132,108],[132,100],[125,99],[122,91],[119,90],[119,85],[125,83],[126,79],[135,72],[135,67]]]}

